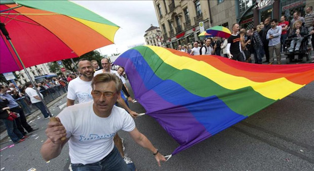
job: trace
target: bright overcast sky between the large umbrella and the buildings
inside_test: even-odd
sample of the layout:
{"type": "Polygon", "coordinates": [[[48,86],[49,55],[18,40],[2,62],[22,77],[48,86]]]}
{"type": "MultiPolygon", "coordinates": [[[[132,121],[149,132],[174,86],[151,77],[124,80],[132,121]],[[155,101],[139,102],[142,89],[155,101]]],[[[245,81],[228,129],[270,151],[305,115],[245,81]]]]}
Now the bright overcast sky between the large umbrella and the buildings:
{"type": "Polygon", "coordinates": [[[153,1],[73,1],[113,22],[121,28],[114,37],[115,44],[100,48],[101,53],[110,55],[123,53],[128,46],[144,43],[145,30],[159,26],[153,1]]]}

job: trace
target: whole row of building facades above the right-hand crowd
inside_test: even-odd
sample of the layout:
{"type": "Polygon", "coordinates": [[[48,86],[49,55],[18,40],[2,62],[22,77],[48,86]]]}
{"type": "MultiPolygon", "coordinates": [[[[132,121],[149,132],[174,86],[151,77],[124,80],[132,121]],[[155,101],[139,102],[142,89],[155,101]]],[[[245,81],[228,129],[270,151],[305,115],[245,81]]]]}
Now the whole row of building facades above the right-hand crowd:
{"type": "Polygon", "coordinates": [[[204,29],[220,25],[232,30],[234,23],[248,29],[267,17],[280,21],[286,15],[291,21],[295,10],[304,16],[306,7],[314,7],[313,0],[155,0],[153,4],[164,43],[170,48],[199,40],[202,21],[204,29]]]}

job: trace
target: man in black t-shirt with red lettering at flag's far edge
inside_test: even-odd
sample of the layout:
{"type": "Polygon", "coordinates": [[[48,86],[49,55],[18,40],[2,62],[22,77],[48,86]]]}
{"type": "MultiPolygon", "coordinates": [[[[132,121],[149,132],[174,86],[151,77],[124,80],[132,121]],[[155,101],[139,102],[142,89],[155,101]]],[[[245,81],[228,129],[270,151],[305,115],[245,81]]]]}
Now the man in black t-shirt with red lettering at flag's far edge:
{"type": "Polygon", "coordinates": [[[238,34],[239,30],[239,24],[235,23],[232,25],[232,34],[228,38],[227,53],[229,59],[244,62],[244,57],[241,53],[240,34],[238,34]]]}

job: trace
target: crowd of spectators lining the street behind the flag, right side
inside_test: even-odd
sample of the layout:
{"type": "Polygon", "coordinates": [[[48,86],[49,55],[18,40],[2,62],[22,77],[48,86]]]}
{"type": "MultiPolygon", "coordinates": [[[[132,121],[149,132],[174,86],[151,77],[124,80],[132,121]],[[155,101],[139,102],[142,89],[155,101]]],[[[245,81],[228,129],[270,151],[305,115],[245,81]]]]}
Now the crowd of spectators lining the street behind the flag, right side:
{"type": "MultiPolygon", "coordinates": [[[[299,52],[300,44],[304,36],[308,37],[308,48],[314,45],[314,12],[312,7],[307,7],[304,17],[299,11],[295,11],[293,19],[287,21],[285,15],[277,19],[266,18],[263,22],[252,29],[240,29],[239,24],[232,25],[232,34],[229,38],[208,37],[192,44],[178,45],[177,50],[191,55],[215,54],[237,60],[252,63],[251,54],[254,55],[255,64],[274,64],[273,53],[276,53],[277,64],[281,64],[281,52],[285,49],[286,39],[291,41],[288,54],[299,52]],[[298,39],[295,39],[298,38],[298,39]],[[265,56],[266,60],[262,61],[265,56]]],[[[312,61],[314,62],[314,61],[312,61]]]]}

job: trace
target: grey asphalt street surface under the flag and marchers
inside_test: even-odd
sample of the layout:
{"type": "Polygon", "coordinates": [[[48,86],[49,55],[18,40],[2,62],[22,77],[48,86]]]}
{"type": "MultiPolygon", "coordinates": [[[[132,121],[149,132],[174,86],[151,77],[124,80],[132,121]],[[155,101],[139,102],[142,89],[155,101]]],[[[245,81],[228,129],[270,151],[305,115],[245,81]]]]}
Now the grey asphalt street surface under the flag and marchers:
{"type": "MultiPolygon", "coordinates": [[[[280,91],[280,90],[279,90],[280,91]]],[[[131,93],[132,94],[132,93],[131,93]]],[[[50,110],[56,116],[65,107],[66,96],[55,101],[50,110]]],[[[139,103],[130,104],[138,113],[139,103]]],[[[314,82],[257,112],[242,122],[172,156],[159,167],[151,152],[143,149],[126,132],[126,153],[137,170],[314,170],[314,82]]],[[[40,148],[46,141],[49,120],[39,113],[28,120],[40,128],[24,142],[13,147],[10,139],[1,142],[2,170],[68,170],[68,145],[50,162],[42,159],[40,148]],[[38,119],[40,118],[40,119],[38,119]],[[7,147],[7,148],[6,148],[7,147]],[[5,148],[5,149],[4,149],[5,148]]],[[[163,155],[171,154],[178,144],[151,117],[135,119],[138,130],[146,135],[163,155]]]]}

